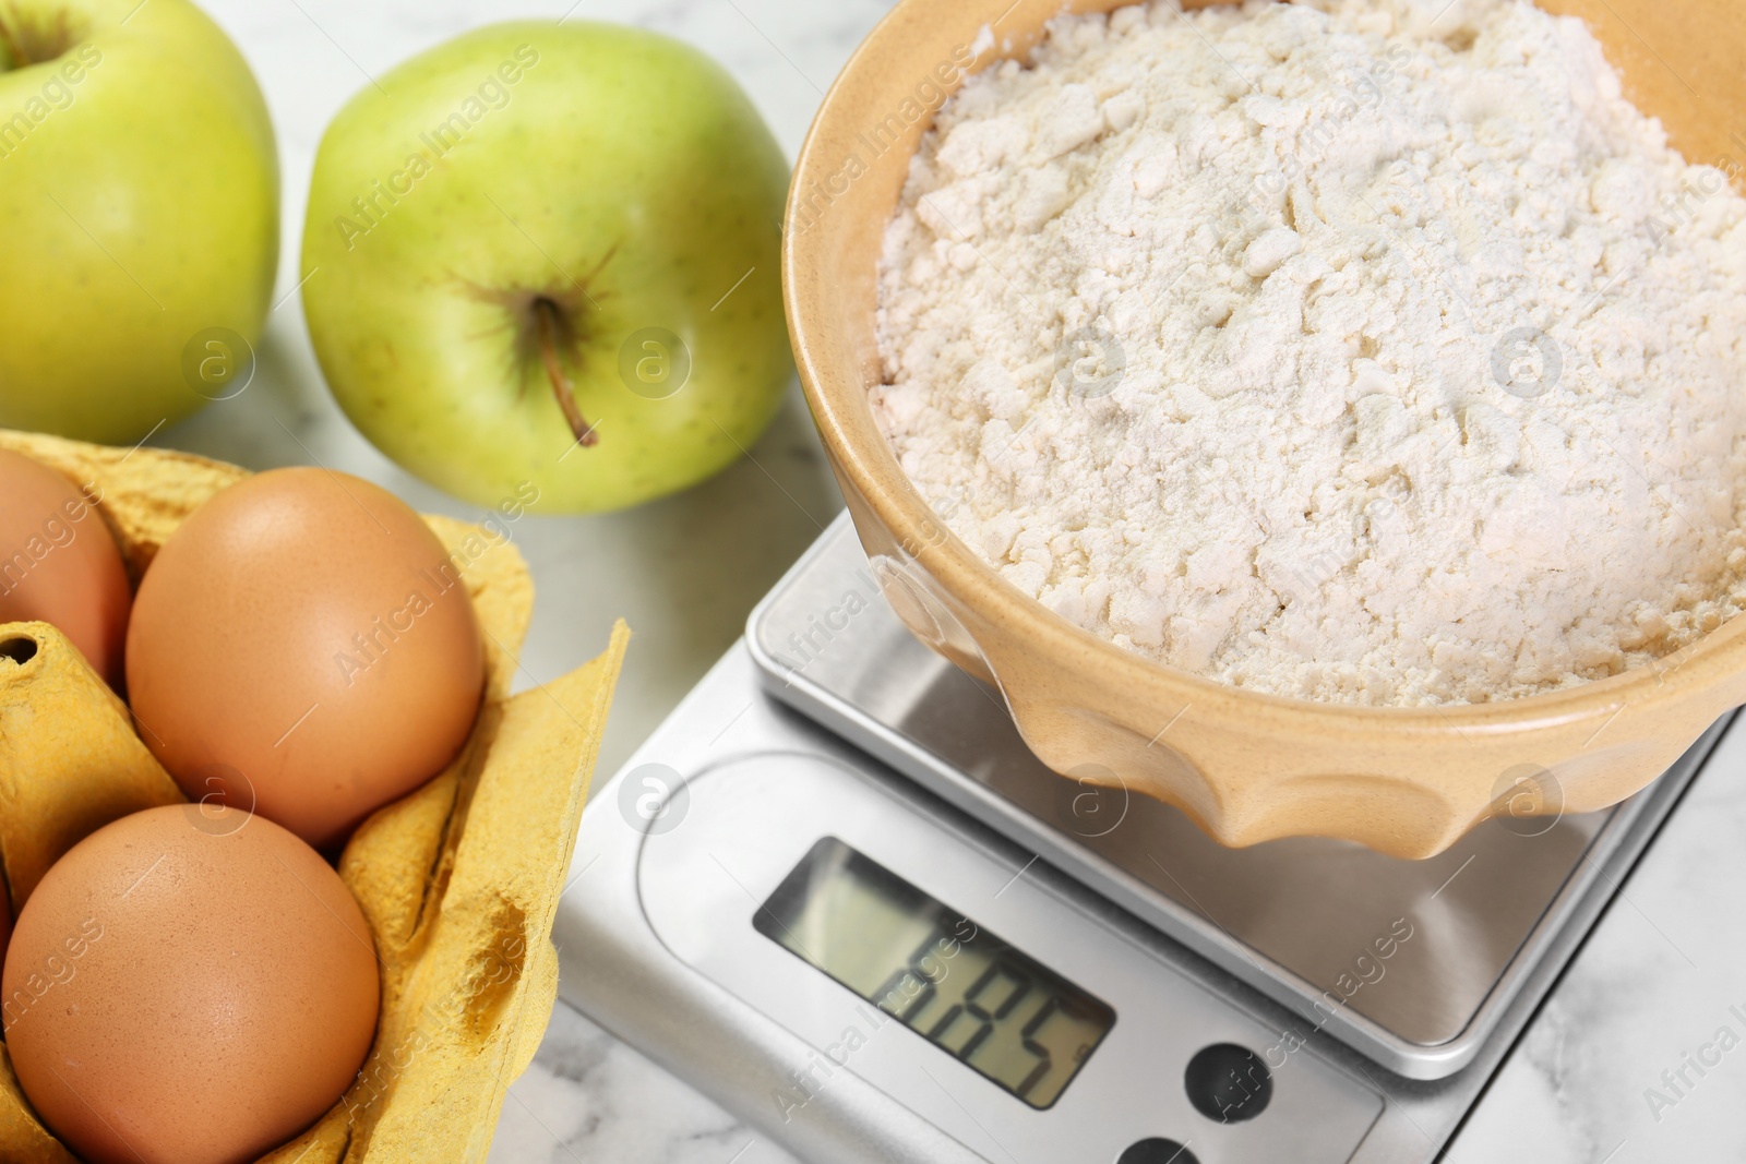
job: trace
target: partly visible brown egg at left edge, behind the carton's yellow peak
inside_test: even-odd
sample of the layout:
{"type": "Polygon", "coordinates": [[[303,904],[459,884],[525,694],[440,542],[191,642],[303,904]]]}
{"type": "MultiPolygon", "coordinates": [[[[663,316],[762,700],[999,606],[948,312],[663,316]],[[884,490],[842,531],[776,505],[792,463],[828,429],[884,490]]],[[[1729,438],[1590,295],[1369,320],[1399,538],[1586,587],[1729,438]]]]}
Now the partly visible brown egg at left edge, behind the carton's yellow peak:
{"type": "Polygon", "coordinates": [[[0,623],[52,623],[119,688],[131,604],[96,506],[49,466],[0,448],[0,623]]]}

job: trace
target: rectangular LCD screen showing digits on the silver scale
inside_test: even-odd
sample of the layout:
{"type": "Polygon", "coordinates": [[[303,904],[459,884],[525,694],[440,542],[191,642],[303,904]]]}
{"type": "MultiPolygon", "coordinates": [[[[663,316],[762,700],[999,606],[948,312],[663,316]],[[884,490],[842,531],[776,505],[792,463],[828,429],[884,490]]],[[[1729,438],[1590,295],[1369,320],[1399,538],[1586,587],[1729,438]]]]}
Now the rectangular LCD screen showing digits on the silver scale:
{"type": "Polygon", "coordinates": [[[836,838],[753,925],[1034,1108],[1053,1106],[1116,1012],[836,838]]]}

